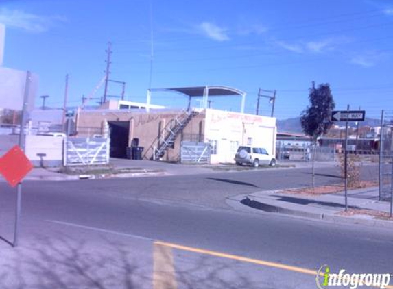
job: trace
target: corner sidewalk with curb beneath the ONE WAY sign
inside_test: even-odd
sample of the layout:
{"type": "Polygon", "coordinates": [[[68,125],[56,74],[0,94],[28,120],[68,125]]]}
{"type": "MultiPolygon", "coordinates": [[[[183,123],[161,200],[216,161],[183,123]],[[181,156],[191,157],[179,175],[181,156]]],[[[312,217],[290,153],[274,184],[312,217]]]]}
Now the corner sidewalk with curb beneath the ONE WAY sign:
{"type": "Polygon", "coordinates": [[[390,202],[377,201],[377,198],[373,196],[378,196],[378,188],[348,191],[348,213],[345,213],[344,192],[306,195],[263,191],[249,194],[241,203],[265,212],[333,221],[334,223],[393,228],[393,219],[388,220],[385,217],[390,212],[390,202]],[[377,216],[373,216],[374,214],[377,216]]]}

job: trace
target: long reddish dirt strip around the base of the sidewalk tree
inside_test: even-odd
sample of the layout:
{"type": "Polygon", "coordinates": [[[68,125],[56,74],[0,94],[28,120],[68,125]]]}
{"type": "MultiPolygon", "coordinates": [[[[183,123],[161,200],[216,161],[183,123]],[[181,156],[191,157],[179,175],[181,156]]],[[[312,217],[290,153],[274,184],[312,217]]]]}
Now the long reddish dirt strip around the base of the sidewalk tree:
{"type": "MultiPolygon", "coordinates": [[[[360,181],[359,186],[348,188],[348,190],[356,190],[359,188],[370,188],[378,186],[377,181],[360,181]]],[[[314,190],[311,187],[307,188],[296,188],[296,189],[289,189],[289,190],[281,190],[278,191],[280,194],[301,194],[301,195],[308,195],[308,196],[315,196],[320,194],[334,194],[336,192],[344,191],[344,184],[336,184],[330,186],[318,186],[315,187],[314,190]]]]}

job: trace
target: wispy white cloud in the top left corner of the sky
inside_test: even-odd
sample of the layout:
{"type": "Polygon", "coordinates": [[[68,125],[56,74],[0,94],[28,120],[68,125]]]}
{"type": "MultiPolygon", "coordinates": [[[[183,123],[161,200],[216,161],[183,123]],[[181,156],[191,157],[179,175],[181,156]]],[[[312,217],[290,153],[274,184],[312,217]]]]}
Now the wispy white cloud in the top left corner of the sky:
{"type": "Polygon", "coordinates": [[[16,27],[27,32],[45,32],[56,21],[65,21],[59,16],[38,16],[22,10],[0,9],[0,23],[8,27],[16,27]]]}

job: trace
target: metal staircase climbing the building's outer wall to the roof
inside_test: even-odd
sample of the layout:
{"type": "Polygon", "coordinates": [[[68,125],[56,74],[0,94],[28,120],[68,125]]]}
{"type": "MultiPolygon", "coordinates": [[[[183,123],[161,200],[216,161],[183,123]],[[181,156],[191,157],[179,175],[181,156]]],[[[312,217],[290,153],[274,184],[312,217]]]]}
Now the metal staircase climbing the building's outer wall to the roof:
{"type": "MultiPolygon", "coordinates": [[[[187,111],[174,119],[176,124],[173,127],[171,127],[173,125],[172,122],[167,123],[161,131],[160,138],[154,140],[153,144],[150,146],[153,150],[150,160],[159,160],[162,158],[165,151],[174,145],[176,138],[182,133],[184,127],[186,127],[191,119],[196,115],[198,115],[198,112],[187,111]]],[[[148,153],[148,151],[146,151],[146,153],[148,153]]]]}

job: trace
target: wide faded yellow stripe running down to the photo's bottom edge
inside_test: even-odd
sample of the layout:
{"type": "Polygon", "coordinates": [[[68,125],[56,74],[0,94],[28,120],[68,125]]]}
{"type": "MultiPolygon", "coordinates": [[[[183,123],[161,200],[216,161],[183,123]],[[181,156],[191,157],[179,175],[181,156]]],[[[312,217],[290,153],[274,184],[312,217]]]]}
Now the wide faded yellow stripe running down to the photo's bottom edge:
{"type": "Polygon", "coordinates": [[[153,288],[154,289],[176,289],[174,256],[169,246],[153,245],[153,288]]]}

